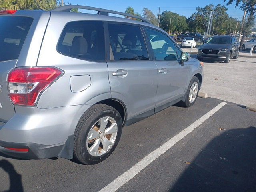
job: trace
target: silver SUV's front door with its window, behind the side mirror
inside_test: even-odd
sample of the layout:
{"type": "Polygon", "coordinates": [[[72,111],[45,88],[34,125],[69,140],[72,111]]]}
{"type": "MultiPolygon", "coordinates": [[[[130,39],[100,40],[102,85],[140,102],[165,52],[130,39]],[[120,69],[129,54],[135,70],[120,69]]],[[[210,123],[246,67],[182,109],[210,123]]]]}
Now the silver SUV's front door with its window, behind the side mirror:
{"type": "Polygon", "coordinates": [[[154,61],[158,70],[157,112],[174,104],[173,102],[184,96],[188,81],[188,65],[185,62],[182,66],[178,61],[176,43],[170,37],[152,28],[145,28],[145,30],[148,37],[158,36],[158,40],[161,42],[161,46],[158,48],[154,47],[154,44],[149,41],[152,45],[154,61]]]}

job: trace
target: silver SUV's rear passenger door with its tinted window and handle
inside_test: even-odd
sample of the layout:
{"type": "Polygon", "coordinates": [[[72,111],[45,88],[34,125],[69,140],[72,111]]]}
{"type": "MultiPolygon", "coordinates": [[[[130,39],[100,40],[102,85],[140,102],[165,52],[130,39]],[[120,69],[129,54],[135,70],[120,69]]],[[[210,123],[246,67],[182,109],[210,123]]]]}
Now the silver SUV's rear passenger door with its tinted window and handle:
{"type": "Polygon", "coordinates": [[[154,61],[149,59],[141,26],[108,23],[108,40],[110,60],[107,63],[112,98],[124,102],[128,120],[154,114],[158,72],[154,61]]]}

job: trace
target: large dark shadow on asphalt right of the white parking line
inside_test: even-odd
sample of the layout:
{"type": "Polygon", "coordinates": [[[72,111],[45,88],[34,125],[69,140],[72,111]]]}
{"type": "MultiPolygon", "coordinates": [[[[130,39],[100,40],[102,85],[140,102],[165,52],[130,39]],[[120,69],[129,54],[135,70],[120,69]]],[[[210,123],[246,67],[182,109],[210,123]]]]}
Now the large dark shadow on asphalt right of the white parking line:
{"type": "Polygon", "coordinates": [[[256,191],[256,127],[222,131],[189,164],[170,192],[256,191]]]}

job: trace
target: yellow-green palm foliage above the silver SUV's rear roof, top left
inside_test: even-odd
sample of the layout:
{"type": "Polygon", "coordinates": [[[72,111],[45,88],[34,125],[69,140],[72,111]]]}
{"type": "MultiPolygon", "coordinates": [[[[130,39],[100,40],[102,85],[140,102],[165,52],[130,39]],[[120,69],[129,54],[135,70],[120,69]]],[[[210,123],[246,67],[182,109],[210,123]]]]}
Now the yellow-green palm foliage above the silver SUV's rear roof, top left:
{"type": "MultiPolygon", "coordinates": [[[[52,10],[57,7],[57,0],[36,0],[43,10],[52,10]]],[[[38,9],[34,0],[0,0],[1,9],[23,10],[38,9]]]]}

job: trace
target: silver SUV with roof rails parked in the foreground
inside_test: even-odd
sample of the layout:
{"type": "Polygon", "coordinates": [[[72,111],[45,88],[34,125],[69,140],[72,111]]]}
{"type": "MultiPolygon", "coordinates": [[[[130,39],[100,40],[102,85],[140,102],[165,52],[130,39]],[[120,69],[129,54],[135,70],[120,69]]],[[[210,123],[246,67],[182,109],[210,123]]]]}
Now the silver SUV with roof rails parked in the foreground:
{"type": "Polygon", "coordinates": [[[72,5],[0,14],[0,151],[8,156],[96,164],[123,126],[196,101],[203,63],[144,18],[72,5]]]}

